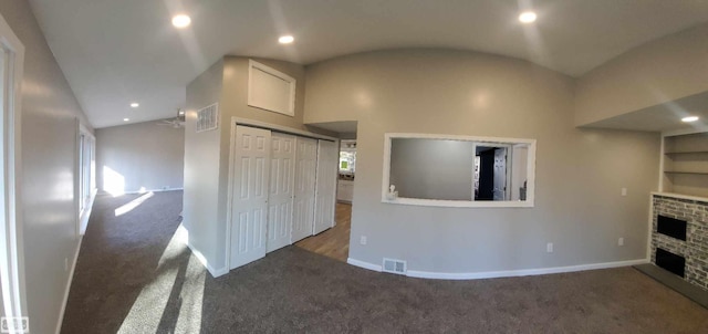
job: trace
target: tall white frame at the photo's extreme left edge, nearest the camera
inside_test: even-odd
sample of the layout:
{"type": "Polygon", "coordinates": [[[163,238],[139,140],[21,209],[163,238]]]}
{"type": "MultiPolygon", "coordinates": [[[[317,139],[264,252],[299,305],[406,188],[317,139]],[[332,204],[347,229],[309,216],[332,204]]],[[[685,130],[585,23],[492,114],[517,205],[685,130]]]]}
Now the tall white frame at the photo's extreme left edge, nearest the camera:
{"type": "MultiPolygon", "coordinates": [[[[7,51],[2,101],[2,153],[0,177],[4,182],[0,191],[0,285],[3,316],[19,319],[27,315],[24,288],[24,253],[21,210],[21,86],[24,45],[0,15],[0,46],[7,51]]],[[[10,333],[14,333],[13,328],[10,333]]]]}

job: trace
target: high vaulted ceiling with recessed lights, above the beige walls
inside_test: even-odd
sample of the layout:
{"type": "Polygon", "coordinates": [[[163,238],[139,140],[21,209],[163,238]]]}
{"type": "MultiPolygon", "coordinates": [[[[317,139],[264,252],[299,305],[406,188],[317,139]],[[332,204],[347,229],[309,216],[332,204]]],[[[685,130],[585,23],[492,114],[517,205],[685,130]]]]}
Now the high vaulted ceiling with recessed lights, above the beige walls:
{"type": "Polygon", "coordinates": [[[476,50],[580,76],[708,21],[708,0],[30,0],[96,128],[170,117],[225,54],[310,64],[395,48],[476,50]],[[530,3],[533,3],[532,6],[530,3]],[[539,20],[522,25],[521,9],[539,20]],[[186,30],[171,27],[178,12],[186,30]],[[295,43],[280,45],[280,34],[295,43]],[[129,107],[139,102],[139,108],[129,107]]]}

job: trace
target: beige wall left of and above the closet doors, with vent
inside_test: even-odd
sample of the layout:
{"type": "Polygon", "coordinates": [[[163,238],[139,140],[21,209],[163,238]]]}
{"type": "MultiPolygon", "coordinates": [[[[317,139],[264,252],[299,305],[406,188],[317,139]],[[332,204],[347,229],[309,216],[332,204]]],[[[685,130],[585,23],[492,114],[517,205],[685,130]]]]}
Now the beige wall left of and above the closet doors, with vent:
{"type": "Polygon", "coordinates": [[[302,125],[304,67],[256,59],[298,81],[295,116],[291,117],[248,106],[248,58],[225,56],[187,86],[185,227],[189,230],[190,242],[205,255],[212,271],[226,268],[231,118],[306,129],[302,125]],[[219,129],[195,133],[195,111],[215,102],[219,103],[219,129]]]}

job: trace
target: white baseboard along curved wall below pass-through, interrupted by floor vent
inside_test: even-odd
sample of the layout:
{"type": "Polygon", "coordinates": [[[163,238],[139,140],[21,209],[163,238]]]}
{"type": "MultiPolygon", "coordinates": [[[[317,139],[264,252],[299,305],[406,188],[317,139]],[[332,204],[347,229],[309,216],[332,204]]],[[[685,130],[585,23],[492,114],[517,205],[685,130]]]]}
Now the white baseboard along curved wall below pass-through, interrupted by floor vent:
{"type": "MultiPolygon", "coordinates": [[[[373,271],[382,271],[382,267],[360,260],[348,258],[346,263],[361,267],[373,271]]],[[[636,264],[649,263],[649,259],[637,259],[627,261],[603,262],[603,263],[590,263],[568,267],[552,267],[552,268],[537,268],[537,269],[520,269],[520,270],[506,270],[506,271],[486,271],[486,272],[430,272],[408,270],[407,276],[418,279],[435,279],[435,280],[479,280],[479,279],[497,279],[497,278],[513,278],[513,276],[529,276],[529,275],[542,275],[562,272],[575,272],[585,270],[629,267],[636,264]]]]}

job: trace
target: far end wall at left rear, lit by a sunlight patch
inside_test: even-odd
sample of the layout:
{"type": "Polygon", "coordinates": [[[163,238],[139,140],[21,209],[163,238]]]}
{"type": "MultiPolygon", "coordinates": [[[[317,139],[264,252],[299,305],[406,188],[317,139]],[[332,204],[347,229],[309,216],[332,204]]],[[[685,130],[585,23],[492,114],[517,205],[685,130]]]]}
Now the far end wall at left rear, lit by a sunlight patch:
{"type": "MultiPolygon", "coordinates": [[[[104,187],[104,168],[124,178],[124,191],[181,189],[185,129],[158,121],[96,129],[96,185],[104,187]]],[[[108,189],[110,190],[110,189],[108,189]]]]}

